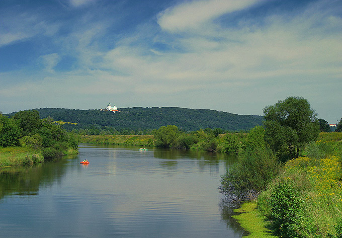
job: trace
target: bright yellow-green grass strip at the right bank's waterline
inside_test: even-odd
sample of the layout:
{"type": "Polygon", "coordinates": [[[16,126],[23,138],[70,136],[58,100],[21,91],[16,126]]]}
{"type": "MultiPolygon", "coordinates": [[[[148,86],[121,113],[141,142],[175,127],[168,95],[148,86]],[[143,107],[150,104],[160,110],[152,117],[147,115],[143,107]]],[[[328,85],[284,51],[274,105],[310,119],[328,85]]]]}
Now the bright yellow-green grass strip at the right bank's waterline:
{"type": "Polygon", "coordinates": [[[268,229],[269,222],[267,218],[257,210],[257,202],[243,203],[241,208],[235,209],[234,212],[240,214],[232,216],[249,232],[248,238],[278,238],[272,235],[272,230],[268,229]]]}

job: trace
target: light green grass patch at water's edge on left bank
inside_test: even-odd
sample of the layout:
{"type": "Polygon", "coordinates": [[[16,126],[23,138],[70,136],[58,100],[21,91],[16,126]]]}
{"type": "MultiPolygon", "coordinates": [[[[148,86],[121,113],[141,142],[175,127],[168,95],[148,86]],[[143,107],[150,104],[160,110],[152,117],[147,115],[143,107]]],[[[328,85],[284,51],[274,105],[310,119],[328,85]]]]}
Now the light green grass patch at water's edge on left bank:
{"type": "Polygon", "coordinates": [[[40,151],[27,147],[0,147],[0,167],[41,163],[44,157],[40,151]]]}

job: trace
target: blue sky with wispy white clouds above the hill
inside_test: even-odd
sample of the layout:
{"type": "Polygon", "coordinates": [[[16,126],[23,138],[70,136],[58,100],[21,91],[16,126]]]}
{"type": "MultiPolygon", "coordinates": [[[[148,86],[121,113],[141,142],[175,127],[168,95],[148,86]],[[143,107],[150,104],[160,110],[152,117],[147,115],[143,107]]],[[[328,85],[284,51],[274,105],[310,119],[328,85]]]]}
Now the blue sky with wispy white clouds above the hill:
{"type": "Polygon", "coordinates": [[[342,0],[1,0],[0,111],[183,107],[342,117],[342,0]]]}

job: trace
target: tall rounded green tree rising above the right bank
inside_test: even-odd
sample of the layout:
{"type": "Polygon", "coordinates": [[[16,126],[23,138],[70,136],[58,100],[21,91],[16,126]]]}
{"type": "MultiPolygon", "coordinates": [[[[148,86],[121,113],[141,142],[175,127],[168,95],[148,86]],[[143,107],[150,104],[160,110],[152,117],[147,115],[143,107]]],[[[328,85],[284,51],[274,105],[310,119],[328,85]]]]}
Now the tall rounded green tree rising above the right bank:
{"type": "Polygon", "coordinates": [[[307,143],[317,138],[319,124],[309,102],[288,97],[264,109],[265,139],[278,156],[297,158],[307,143]]]}

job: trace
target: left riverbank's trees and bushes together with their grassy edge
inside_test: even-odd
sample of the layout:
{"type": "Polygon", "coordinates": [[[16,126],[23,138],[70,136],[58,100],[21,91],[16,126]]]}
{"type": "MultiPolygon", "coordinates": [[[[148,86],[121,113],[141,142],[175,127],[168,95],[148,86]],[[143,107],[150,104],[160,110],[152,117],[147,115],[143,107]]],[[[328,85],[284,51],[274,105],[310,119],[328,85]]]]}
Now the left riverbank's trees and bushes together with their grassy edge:
{"type": "Polygon", "coordinates": [[[0,167],[40,163],[77,151],[77,136],[52,118],[40,119],[38,111],[20,111],[12,118],[0,114],[0,167]]]}

